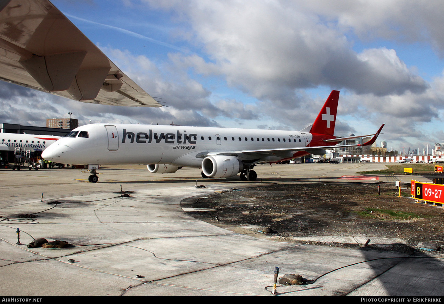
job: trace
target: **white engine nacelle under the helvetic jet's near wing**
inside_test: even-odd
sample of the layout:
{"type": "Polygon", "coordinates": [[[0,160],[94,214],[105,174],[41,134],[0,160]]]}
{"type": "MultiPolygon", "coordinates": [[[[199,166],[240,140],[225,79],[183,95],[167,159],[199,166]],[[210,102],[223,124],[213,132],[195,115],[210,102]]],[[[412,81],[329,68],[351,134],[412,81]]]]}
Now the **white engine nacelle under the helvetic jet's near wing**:
{"type": "Polygon", "coordinates": [[[202,160],[202,172],[208,177],[235,176],[243,169],[243,164],[234,156],[207,156],[202,160]]]}

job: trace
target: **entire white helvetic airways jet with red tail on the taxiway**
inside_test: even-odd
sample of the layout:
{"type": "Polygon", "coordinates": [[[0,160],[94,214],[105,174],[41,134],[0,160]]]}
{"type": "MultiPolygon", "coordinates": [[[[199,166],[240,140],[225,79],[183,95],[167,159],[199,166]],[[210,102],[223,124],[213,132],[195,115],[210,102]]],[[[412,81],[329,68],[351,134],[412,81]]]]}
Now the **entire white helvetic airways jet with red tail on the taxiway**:
{"type": "MultiPolygon", "coordinates": [[[[259,162],[277,162],[327,148],[352,147],[339,142],[364,136],[333,136],[339,91],[332,91],[309,132],[236,128],[182,127],[142,124],[88,124],[75,128],[48,147],[42,157],[57,163],[89,164],[90,182],[97,182],[100,164],[148,164],[153,173],[173,173],[180,167],[202,167],[202,177],[256,180],[259,162]]],[[[362,144],[371,145],[373,138],[362,144]]]]}

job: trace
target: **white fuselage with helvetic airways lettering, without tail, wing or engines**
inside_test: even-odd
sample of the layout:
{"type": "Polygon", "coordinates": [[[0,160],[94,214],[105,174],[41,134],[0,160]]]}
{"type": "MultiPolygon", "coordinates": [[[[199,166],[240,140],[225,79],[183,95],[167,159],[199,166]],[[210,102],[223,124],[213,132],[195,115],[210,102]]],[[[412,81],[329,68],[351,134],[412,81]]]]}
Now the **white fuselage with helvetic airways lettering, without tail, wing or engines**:
{"type": "MultiPolygon", "coordinates": [[[[42,156],[65,164],[201,167],[208,153],[305,147],[312,139],[308,132],[142,124],[88,124],[71,133],[72,137],[58,140],[42,156]]],[[[282,152],[273,156],[242,154],[241,158],[257,163],[290,156],[291,152],[282,152]]]]}

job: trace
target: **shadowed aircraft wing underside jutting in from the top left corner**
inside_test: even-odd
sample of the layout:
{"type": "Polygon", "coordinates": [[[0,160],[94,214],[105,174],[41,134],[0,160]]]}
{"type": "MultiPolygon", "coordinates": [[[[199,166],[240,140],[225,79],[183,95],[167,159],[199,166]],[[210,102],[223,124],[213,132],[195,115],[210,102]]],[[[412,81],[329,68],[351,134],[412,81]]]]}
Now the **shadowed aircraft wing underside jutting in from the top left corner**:
{"type": "Polygon", "coordinates": [[[0,0],[0,80],[93,104],[161,107],[48,0],[0,0]]]}

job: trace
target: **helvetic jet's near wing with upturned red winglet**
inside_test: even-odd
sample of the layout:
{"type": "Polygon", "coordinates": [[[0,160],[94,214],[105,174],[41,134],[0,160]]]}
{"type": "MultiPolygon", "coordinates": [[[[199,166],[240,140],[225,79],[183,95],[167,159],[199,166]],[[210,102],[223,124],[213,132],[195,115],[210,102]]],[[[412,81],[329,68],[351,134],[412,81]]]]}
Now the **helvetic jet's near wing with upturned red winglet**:
{"type": "MultiPolygon", "coordinates": [[[[330,145],[330,146],[306,146],[306,147],[294,147],[294,148],[277,148],[277,149],[257,149],[257,150],[237,150],[237,151],[220,151],[220,152],[209,152],[208,156],[214,155],[233,155],[233,154],[246,154],[246,155],[281,155],[285,152],[297,152],[297,151],[319,151],[324,149],[334,149],[334,148],[346,148],[346,147],[359,147],[359,146],[368,146],[372,145],[377,139],[379,133],[381,132],[384,124],[379,128],[378,132],[376,132],[373,138],[364,144],[343,144],[343,145],[330,145]]],[[[339,141],[342,141],[339,139],[339,141]]]]}

